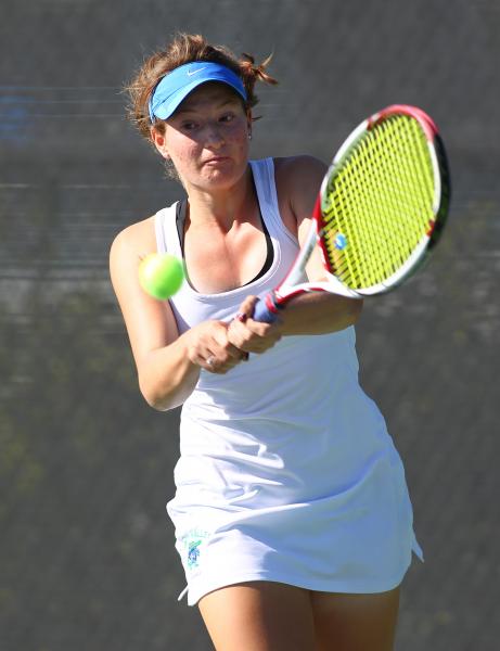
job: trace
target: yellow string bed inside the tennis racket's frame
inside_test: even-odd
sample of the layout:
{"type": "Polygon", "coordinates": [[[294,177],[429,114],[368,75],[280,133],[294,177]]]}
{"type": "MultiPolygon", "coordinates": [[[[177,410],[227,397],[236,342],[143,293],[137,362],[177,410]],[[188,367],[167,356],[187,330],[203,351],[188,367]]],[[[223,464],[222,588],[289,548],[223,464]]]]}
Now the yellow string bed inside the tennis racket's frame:
{"type": "Polygon", "coordinates": [[[331,270],[355,290],[390,278],[426,237],[434,194],[427,140],[414,118],[392,116],[367,131],[326,188],[323,242],[331,270]]]}

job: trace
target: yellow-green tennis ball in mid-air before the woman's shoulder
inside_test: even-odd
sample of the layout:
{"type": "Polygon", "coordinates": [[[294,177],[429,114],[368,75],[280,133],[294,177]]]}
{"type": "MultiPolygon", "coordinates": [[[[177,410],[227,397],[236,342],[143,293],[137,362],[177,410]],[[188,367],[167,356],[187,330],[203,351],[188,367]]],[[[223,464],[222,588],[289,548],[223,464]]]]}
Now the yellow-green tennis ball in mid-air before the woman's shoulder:
{"type": "Polygon", "coordinates": [[[169,253],[150,253],[139,263],[139,282],[142,289],[158,301],[166,301],[180,290],[184,266],[169,253]]]}

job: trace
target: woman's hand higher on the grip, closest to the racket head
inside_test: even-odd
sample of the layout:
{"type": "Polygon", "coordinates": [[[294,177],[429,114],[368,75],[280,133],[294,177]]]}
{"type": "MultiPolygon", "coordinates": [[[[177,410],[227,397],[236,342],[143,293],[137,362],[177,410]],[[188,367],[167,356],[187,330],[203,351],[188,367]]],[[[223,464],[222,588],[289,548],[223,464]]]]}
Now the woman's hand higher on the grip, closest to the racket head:
{"type": "Polygon", "coordinates": [[[261,323],[252,319],[257,301],[257,296],[247,296],[228,329],[229,342],[245,353],[265,353],[272,348],[282,336],[279,321],[261,323]]]}

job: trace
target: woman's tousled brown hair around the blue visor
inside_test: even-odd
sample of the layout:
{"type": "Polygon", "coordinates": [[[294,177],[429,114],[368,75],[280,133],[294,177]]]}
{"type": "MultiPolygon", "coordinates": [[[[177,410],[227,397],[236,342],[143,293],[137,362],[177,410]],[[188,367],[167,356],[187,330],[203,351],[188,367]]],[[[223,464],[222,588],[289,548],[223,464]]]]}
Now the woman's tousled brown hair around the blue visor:
{"type": "MultiPolygon", "coordinates": [[[[226,65],[236,73],[246,90],[245,110],[253,108],[258,103],[254,92],[256,81],[278,84],[266,73],[270,60],[271,56],[268,56],[266,61],[256,66],[254,58],[249,54],[242,54],[242,59],[239,60],[228,48],[211,46],[200,34],[179,33],[165,49],[158,50],[146,59],[131,81],[124,88],[129,95],[127,117],[137,126],[141,136],[152,142],[149,113],[151,94],[167,73],[192,61],[213,61],[226,65]]],[[[164,132],[164,120],[155,119],[154,126],[164,132]]]]}

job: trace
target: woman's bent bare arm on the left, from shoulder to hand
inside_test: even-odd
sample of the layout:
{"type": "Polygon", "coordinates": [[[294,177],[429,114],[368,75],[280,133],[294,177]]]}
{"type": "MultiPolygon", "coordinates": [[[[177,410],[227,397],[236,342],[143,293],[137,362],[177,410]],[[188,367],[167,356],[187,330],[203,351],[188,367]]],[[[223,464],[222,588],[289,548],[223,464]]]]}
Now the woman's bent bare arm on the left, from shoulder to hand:
{"type": "Polygon", "coordinates": [[[156,250],[149,220],[128,227],[114,240],[110,272],[130,340],[139,386],[149,405],[165,411],[194,390],[200,369],[226,373],[243,353],[228,341],[228,326],[205,321],[179,336],[167,302],[151,298],[139,284],[140,255],[156,250]],[[214,363],[208,365],[207,359],[214,363]]]}

